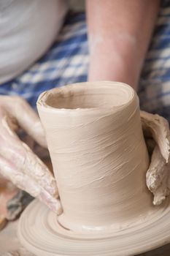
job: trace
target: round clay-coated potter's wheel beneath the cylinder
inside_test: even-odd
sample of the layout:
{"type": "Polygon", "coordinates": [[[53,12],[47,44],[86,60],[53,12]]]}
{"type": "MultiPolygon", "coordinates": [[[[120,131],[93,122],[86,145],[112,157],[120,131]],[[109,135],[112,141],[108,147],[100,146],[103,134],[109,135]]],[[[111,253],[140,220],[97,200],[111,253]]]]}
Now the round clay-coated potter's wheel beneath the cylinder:
{"type": "Polygon", "coordinates": [[[141,223],[109,233],[74,233],[58,223],[47,206],[34,200],[20,217],[18,236],[39,256],[127,256],[155,249],[170,241],[170,203],[154,207],[141,223]]]}

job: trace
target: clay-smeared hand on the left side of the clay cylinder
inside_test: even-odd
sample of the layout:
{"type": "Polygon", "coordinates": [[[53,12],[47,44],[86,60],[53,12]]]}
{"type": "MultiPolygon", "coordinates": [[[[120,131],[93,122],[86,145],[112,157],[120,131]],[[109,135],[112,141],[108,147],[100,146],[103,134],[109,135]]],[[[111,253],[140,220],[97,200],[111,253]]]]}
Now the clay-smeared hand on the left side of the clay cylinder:
{"type": "Polygon", "coordinates": [[[38,116],[20,97],[0,96],[0,174],[38,197],[53,211],[61,211],[55,179],[46,165],[18,138],[24,129],[39,145],[46,140],[38,116]]]}

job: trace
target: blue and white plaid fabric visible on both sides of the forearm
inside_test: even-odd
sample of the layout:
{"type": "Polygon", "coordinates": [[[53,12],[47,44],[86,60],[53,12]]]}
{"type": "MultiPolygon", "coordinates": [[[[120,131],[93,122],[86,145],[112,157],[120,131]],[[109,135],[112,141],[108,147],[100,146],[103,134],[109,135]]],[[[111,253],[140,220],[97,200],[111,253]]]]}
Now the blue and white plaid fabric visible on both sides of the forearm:
{"type": "MultiPolygon", "coordinates": [[[[30,69],[0,86],[0,94],[20,95],[34,108],[42,91],[87,80],[88,39],[84,13],[69,13],[50,50],[30,69]]],[[[170,0],[162,1],[155,33],[144,62],[141,108],[170,121],[170,0]]]]}

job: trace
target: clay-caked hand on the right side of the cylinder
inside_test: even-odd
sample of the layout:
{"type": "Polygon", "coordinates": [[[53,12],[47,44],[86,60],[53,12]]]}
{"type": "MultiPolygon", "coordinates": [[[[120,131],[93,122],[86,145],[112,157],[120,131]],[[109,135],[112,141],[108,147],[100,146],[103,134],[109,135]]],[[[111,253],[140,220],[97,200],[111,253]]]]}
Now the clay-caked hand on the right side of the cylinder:
{"type": "Polygon", "coordinates": [[[144,135],[155,140],[150,167],[147,170],[147,187],[154,195],[153,204],[160,205],[170,192],[170,131],[165,118],[141,111],[144,135]]]}

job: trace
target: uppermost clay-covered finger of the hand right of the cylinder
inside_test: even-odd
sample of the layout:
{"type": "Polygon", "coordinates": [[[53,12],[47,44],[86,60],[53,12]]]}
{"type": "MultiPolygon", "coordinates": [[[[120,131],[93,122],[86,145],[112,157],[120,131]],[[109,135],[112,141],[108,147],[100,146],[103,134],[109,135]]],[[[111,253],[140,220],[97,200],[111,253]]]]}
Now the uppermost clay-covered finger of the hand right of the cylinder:
{"type": "Polygon", "coordinates": [[[149,131],[152,138],[158,144],[161,154],[166,162],[169,162],[170,156],[170,132],[169,123],[165,118],[153,115],[144,111],[140,112],[142,128],[149,131]]]}

